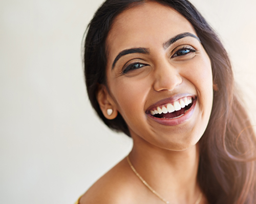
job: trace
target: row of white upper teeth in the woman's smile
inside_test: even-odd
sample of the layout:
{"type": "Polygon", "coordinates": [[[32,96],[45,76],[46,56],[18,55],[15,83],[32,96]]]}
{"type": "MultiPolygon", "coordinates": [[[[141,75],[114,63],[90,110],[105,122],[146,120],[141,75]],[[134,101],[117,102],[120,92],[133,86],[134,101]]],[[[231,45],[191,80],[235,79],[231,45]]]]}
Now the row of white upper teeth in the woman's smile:
{"type": "Polygon", "coordinates": [[[160,108],[159,106],[155,110],[151,111],[152,115],[161,114],[161,113],[172,113],[174,111],[179,111],[180,109],[188,106],[192,103],[192,97],[184,97],[179,100],[174,101],[173,104],[166,104],[160,108]]]}

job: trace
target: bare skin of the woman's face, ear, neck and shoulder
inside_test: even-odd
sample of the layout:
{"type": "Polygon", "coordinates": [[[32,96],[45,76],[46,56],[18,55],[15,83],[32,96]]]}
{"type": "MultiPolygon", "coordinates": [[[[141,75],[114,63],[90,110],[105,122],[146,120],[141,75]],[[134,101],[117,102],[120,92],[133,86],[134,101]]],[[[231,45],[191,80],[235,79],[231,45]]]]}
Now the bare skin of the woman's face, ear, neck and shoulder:
{"type": "MultiPolygon", "coordinates": [[[[163,46],[182,33],[196,36],[191,24],[177,11],[155,2],[119,14],[106,40],[109,91],[101,86],[98,102],[106,118],[113,119],[119,112],[129,126],[134,141],[130,159],[143,179],[170,203],[193,204],[201,192],[197,183],[198,141],[211,112],[212,73],[210,60],[195,37],[183,37],[163,46]],[[139,47],[149,52],[122,56],[113,66],[120,52],[139,47]],[[187,54],[177,56],[179,49],[187,54]],[[131,63],[139,63],[141,68],[122,73],[131,63]],[[163,125],[146,114],[158,101],[180,94],[196,98],[188,120],[163,125]],[[106,113],[109,108],[113,109],[110,116],[106,113]]],[[[80,203],[163,202],[123,159],[82,196],[80,203]]],[[[207,203],[206,198],[200,203],[207,203]]]]}

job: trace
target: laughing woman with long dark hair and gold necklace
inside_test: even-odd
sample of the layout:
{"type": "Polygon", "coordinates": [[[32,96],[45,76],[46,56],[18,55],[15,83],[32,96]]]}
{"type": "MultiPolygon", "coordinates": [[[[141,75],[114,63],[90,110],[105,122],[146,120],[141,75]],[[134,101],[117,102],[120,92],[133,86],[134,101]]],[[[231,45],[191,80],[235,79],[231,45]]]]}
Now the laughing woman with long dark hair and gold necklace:
{"type": "Polygon", "coordinates": [[[255,135],[223,45],[186,0],[110,0],[85,42],[99,117],[134,146],[84,203],[254,203],[255,135]]]}

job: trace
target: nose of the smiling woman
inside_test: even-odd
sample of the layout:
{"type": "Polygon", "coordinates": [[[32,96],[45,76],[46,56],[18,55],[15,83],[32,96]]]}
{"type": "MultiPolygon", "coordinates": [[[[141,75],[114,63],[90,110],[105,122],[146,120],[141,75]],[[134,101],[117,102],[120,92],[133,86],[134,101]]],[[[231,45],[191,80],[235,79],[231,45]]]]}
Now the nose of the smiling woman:
{"type": "Polygon", "coordinates": [[[174,90],[182,83],[179,68],[176,68],[168,60],[157,63],[154,71],[154,90],[174,90]]]}

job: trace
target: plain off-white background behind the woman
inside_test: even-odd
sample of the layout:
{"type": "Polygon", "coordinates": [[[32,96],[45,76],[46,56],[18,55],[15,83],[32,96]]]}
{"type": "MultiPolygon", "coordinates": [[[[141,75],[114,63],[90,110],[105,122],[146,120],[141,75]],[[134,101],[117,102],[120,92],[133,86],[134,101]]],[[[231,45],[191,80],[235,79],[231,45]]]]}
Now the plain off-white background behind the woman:
{"type": "MultiPolygon", "coordinates": [[[[220,34],[254,117],[256,1],[191,2],[220,34]]],[[[130,151],[83,82],[81,39],[101,3],[0,1],[0,203],[74,203],[130,151]]]]}

